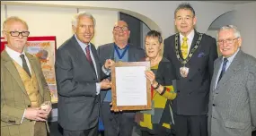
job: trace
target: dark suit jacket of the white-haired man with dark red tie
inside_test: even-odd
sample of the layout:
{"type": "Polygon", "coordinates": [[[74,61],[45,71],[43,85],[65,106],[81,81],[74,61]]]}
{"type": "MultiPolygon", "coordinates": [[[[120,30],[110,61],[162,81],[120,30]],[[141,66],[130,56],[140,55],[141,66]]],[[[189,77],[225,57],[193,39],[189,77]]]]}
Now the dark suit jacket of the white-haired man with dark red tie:
{"type": "Polygon", "coordinates": [[[91,45],[99,78],[75,36],[57,48],[58,123],[69,131],[88,130],[98,123],[100,105],[96,82],[100,81],[102,65],[95,47],[91,45]]]}

